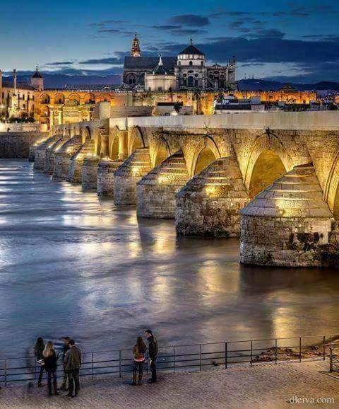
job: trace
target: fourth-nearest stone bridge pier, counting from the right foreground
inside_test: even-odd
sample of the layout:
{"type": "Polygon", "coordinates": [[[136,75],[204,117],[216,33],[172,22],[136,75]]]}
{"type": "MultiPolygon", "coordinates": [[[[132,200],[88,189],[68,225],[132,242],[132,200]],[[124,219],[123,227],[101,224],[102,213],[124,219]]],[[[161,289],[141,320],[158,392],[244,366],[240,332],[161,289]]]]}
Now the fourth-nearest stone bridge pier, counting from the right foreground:
{"type": "Polygon", "coordinates": [[[136,149],[114,172],[114,203],[136,205],[136,183],[151,169],[149,149],[136,149]]]}

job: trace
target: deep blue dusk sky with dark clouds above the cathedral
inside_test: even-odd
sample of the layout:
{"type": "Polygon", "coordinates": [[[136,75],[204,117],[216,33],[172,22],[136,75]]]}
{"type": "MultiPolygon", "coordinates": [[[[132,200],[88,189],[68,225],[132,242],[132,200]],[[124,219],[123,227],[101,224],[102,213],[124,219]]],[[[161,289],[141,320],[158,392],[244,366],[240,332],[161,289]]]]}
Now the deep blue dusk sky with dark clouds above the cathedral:
{"type": "Polygon", "coordinates": [[[237,56],[237,79],[339,81],[334,0],[28,1],[1,5],[0,68],[117,74],[133,33],[143,55],[175,55],[193,38],[208,62],[237,56]]]}

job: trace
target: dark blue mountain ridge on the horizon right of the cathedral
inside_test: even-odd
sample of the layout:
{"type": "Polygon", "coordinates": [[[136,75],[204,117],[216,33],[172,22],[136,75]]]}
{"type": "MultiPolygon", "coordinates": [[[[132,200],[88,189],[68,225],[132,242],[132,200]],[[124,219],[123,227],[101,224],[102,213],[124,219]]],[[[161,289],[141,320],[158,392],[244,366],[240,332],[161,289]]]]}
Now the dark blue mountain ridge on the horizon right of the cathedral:
{"type": "MultiPolygon", "coordinates": [[[[278,91],[287,82],[269,81],[265,79],[241,79],[238,81],[240,91],[278,91]]],[[[317,83],[290,83],[297,91],[339,91],[339,83],[331,81],[321,81],[317,83]]]]}

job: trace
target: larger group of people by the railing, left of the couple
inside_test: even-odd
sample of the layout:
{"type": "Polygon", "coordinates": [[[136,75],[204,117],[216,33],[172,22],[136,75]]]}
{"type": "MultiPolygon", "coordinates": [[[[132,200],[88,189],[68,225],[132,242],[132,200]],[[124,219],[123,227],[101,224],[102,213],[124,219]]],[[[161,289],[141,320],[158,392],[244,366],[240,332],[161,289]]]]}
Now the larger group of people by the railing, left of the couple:
{"type": "MultiPolygon", "coordinates": [[[[64,341],[61,356],[63,366],[63,382],[59,390],[68,391],[66,396],[74,398],[78,395],[80,390],[79,372],[81,368],[81,350],[76,346],[76,342],[71,340],[69,337],[63,337],[62,340],[64,341]],[[67,380],[69,381],[68,388],[66,387],[67,380]]],[[[45,345],[44,340],[41,337],[37,338],[34,353],[37,363],[40,365],[37,386],[43,386],[42,376],[44,371],[46,371],[48,396],[52,396],[52,383],[54,395],[59,395],[57,388],[57,362],[59,359],[59,354],[55,352],[53,342],[48,341],[45,345]]]]}

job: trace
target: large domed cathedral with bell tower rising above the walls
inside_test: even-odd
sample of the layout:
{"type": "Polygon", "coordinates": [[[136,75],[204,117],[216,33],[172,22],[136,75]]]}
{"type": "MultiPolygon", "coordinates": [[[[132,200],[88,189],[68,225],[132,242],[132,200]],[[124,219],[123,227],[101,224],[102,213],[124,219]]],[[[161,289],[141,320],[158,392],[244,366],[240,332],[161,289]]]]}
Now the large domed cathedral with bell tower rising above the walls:
{"type": "Polygon", "coordinates": [[[236,60],[206,65],[206,56],[191,43],[177,57],[142,57],[137,36],[124,59],[122,88],[135,91],[237,91],[236,60]]]}

